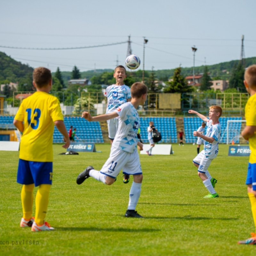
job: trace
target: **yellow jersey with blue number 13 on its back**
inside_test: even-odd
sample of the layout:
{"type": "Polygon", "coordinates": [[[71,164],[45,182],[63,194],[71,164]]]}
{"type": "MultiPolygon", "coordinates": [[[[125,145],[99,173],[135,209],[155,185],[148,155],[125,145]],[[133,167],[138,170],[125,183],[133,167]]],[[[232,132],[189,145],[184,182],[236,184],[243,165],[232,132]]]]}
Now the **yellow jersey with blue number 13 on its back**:
{"type": "Polygon", "coordinates": [[[20,159],[52,162],[53,122],[63,120],[59,100],[49,93],[35,92],[22,101],[14,119],[24,122],[20,159]]]}

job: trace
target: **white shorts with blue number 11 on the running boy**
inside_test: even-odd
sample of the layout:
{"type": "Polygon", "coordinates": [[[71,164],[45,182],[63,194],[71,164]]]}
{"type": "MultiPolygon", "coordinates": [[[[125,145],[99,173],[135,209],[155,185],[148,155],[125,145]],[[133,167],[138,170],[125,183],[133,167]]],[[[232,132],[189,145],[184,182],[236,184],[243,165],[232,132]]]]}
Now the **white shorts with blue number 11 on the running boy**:
{"type": "Polygon", "coordinates": [[[123,169],[124,174],[142,174],[140,157],[137,148],[133,153],[111,147],[110,156],[100,172],[109,177],[116,178],[123,169]]]}

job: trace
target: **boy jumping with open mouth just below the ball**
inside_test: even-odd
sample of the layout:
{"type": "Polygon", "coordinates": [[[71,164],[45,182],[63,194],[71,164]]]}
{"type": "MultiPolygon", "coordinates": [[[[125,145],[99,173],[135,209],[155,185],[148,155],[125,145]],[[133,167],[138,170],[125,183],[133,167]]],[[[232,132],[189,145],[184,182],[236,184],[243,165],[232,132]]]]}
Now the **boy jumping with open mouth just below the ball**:
{"type": "MultiPolygon", "coordinates": [[[[126,70],[124,66],[117,66],[114,70],[113,76],[116,78],[116,84],[109,85],[104,94],[108,99],[106,114],[113,113],[119,106],[125,102],[131,101],[132,99],[130,88],[124,84],[124,79],[126,78],[126,70]]],[[[110,119],[107,121],[107,124],[108,137],[110,139],[110,144],[112,145],[118,129],[118,119],[110,119]]],[[[124,183],[128,183],[130,181],[129,175],[124,174],[123,177],[124,183]]]]}

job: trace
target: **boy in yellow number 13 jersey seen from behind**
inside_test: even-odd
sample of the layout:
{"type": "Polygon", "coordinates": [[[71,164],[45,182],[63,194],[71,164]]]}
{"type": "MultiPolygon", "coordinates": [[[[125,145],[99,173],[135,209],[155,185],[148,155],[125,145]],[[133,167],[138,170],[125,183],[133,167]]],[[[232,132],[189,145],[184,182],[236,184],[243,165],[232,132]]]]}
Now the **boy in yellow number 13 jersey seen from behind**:
{"type": "Polygon", "coordinates": [[[70,144],[63,122],[60,102],[49,94],[52,89],[52,74],[47,68],[34,69],[33,84],[36,92],[24,99],[14,117],[13,124],[22,132],[17,182],[23,184],[21,203],[23,217],[20,227],[31,227],[32,231],[52,230],[45,222],[49,193],[52,185],[53,131],[54,124],[63,134],[65,145],[70,144]],[[36,214],[32,217],[33,190],[36,193],[36,214]]]}

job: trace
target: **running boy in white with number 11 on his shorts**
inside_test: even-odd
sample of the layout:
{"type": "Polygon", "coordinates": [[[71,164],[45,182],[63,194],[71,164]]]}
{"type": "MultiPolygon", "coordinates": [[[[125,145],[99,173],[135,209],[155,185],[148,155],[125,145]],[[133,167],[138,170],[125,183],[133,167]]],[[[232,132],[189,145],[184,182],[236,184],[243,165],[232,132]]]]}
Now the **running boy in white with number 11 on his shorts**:
{"type": "Polygon", "coordinates": [[[132,100],[118,107],[110,114],[91,116],[83,112],[82,117],[88,121],[106,121],[118,117],[119,125],[115,140],[112,143],[110,156],[100,171],[88,166],[76,179],[81,184],[89,177],[111,185],[119,172],[123,169],[124,174],[133,175],[133,183],[130,190],[130,200],[125,217],[141,218],[135,211],[141,191],[142,170],[137,145],[142,150],[143,144],[138,141],[137,133],[140,127],[140,118],[137,112],[139,105],[143,105],[147,99],[148,87],[142,83],[134,83],[131,87],[132,100]]]}

